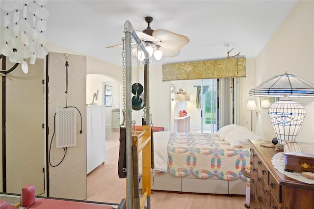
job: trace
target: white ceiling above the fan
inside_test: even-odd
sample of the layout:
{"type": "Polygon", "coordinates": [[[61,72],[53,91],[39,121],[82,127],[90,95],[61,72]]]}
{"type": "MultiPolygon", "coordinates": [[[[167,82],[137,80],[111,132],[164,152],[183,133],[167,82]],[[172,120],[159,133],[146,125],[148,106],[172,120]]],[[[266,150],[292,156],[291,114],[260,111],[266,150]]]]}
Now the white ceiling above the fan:
{"type": "MultiPolygon", "coordinates": [[[[124,23],[134,29],[166,29],[187,36],[190,42],[176,57],[152,64],[209,60],[240,52],[256,57],[281,25],[297,0],[49,0],[48,40],[108,63],[122,65],[124,23]]],[[[2,21],[1,21],[2,25],[2,21]]]]}

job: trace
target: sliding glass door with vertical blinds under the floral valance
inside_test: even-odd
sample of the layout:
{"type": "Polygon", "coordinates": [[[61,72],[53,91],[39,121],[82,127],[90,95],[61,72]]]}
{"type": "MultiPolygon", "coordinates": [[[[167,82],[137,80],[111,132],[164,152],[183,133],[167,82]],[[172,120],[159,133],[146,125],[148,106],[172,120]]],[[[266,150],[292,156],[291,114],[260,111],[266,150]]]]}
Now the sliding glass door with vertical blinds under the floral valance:
{"type": "MultiPolygon", "coordinates": [[[[220,127],[235,123],[235,91],[238,89],[235,86],[239,81],[234,81],[234,78],[171,81],[174,94],[184,93],[189,98],[188,101],[172,101],[171,108],[177,112],[187,111],[190,132],[216,132],[220,127]],[[174,104],[179,102],[184,103],[184,107],[176,109],[174,104]]],[[[176,117],[179,115],[172,115],[172,122],[176,117]]]]}

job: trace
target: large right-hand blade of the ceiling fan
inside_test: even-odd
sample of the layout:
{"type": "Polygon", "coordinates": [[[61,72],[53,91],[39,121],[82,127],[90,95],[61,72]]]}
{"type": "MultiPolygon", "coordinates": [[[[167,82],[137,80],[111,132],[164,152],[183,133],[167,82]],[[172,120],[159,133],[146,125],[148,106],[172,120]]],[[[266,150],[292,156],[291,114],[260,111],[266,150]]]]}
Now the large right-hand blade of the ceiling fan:
{"type": "Polygon", "coordinates": [[[161,40],[158,45],[169,50],[180,50],[190,40],[184,36],[168,30],[157,29],[153,32],[153,36],[161,40]]]}

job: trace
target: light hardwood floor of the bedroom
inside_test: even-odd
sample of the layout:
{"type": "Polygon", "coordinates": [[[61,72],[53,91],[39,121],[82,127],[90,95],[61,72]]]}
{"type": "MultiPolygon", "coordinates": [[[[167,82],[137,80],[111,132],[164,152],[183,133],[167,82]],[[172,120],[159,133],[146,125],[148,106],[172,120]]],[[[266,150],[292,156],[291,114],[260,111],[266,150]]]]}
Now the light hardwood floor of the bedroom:
{"type": "MultiPolygon", "coordinates": [[[[119,132],[106,139],[106,160],[87,175],[87,200],[120,203],[126,198],[126,179],[118,177],[119,132]]],[[[154,191],[151,209],[245,209],[244,195],[192,194],[154,191]]]]}

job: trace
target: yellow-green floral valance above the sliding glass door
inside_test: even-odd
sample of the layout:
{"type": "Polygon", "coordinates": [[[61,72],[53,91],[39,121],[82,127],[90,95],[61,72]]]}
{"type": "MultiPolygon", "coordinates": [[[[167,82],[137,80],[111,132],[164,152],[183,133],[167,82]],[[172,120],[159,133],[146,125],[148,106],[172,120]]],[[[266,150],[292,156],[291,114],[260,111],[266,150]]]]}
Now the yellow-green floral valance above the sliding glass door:
{"type": "Polygon", "coordinates": [[[162,65],[162,81],[245,76],[245,57],[162,65]]]}

